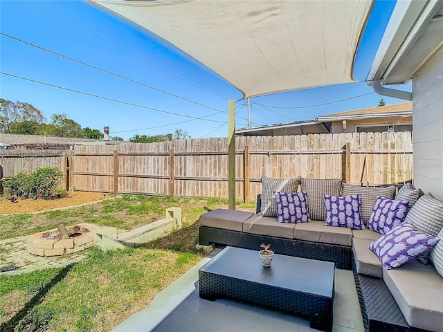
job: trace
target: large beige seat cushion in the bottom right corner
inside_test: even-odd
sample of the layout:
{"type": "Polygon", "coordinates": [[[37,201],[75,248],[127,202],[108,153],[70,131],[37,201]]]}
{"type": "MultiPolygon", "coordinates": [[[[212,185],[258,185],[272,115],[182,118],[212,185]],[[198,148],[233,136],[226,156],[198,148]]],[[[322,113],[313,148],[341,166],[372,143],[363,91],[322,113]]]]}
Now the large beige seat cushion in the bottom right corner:
{"type": "Polygon", "coordinates": [[[410,326],[442,331],[443,279],[435,268],[413,259],[401,268],[383,268],[383,280],[410,326]]]}

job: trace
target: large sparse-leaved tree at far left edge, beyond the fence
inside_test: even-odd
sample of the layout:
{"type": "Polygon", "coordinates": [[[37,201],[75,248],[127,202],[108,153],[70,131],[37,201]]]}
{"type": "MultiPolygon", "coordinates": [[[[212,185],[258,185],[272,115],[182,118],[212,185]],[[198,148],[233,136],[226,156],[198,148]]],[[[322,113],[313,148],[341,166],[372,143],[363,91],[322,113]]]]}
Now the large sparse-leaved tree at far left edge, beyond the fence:
{"type": "MultiPolygon", "coordinates": [[[[10,133],[12,123],[32,121],[43,124],[46,118],[42,111],[27,102],[11,102],[0,98],[0,131],[10,133]]],[[[27,124],[29,125],[29,124],[27,124]]],[[[28,127],[28,129],[30,129],[28,127]]]]}

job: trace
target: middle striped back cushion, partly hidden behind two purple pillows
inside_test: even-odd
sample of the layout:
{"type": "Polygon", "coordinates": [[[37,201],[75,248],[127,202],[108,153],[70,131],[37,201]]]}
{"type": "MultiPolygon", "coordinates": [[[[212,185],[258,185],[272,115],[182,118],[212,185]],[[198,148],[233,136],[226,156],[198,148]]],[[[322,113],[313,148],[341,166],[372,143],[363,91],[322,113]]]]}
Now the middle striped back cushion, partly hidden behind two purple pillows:
{"type": "Polygon", "coordinates": [[[307,206],[312,220],[325,220],[325,201],[323,195],[339,196],[341,190],[341,178],[302,178],[300,187],[307,194],[307,206]]]}

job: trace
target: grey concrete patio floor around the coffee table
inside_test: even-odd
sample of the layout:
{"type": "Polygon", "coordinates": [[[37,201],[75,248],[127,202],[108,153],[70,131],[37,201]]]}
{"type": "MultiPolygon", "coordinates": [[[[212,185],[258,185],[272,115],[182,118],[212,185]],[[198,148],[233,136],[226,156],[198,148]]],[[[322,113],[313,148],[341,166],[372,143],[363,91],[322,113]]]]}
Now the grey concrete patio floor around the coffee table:
{"type": "MultiPolygon", "coordinates": [[[[214,302],[201,299],[198,270],[218,250],[199,262],[159,295],[152,304],[116,326],[113,332],[126,331],[318,331],[301,317],[251,306],[228,299],[214,302]]],[[[350,270],[335,270],[333,332],[364,331],[363,320],[350,270]]]]}

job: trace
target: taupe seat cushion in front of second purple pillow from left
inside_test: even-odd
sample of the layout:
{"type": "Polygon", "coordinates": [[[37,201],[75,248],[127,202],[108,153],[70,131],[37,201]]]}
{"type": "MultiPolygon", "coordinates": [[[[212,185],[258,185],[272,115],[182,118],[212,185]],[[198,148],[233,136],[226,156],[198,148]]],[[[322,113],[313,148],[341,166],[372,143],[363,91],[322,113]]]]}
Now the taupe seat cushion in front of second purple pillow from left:
{"type": "Polygon", "coordinates": [[[352,246],[350,228],[329,227],[324,221],[314,220],[310,223],[296,223],[294,237],[299,240],[340,244],[352,246]]]}

